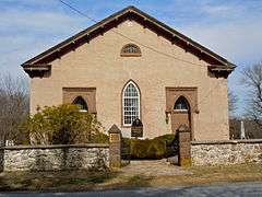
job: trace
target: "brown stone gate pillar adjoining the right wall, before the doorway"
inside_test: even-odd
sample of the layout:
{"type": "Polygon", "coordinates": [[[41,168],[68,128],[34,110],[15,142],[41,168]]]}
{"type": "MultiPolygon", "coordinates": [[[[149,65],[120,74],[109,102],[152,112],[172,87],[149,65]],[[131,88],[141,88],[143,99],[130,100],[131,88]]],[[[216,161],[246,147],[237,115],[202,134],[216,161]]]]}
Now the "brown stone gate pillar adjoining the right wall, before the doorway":
{"type": "Polygon", "coordinates": [[[187,125],[180,125],[178,134],[178,164],[180,166],[191,165],[191,134],[187,125]]]}

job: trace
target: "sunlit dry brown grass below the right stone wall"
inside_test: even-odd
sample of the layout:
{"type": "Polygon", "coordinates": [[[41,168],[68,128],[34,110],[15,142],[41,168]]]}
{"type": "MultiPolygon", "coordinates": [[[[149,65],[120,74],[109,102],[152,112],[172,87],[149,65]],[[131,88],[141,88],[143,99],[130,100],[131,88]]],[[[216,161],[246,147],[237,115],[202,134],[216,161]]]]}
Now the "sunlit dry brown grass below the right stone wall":
{"type": "Polygon", "coordinates": [[[193,166],[183,169],[189,175],[162,176],[152,181],[152,186],[203,185],[230,182],[262,181],[262,165],[241,164],[228,166],[193,166]]]}

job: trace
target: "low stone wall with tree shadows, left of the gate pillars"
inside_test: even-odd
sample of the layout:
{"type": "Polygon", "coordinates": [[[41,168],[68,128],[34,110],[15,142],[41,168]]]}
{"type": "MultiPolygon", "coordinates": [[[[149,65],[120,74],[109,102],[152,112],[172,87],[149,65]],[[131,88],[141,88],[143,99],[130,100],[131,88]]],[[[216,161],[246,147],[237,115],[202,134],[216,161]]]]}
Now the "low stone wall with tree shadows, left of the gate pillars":
{"type": "Polygon", "coordinates": [[[0,149],[3,171],[105,170],[109,144],[19,146],[0,149]]]}

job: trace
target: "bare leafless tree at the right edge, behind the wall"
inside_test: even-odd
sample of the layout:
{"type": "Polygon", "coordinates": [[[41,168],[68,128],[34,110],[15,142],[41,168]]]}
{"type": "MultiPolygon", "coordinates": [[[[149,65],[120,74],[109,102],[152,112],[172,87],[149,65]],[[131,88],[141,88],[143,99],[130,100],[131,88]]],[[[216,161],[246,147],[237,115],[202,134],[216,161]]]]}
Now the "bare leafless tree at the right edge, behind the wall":
{"type": "Polygon", "coordinates": [[[262,61],[242,71],[242,83],[249,90],[247,116],[262,127],[262,61]]]}

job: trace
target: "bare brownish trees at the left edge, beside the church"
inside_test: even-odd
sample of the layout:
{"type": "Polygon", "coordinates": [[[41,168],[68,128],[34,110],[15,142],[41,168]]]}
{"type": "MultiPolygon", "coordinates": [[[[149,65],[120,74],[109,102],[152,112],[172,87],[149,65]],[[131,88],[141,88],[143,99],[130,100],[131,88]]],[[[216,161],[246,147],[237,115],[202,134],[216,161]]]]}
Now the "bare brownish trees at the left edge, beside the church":
{"type": "Polygon", "coordinates": [[[14,140],[15,143],[24,140],[17,126],[28,115],[28,89],[24,78],[0,76],[0,146],[5,140],[14,140]]]}

